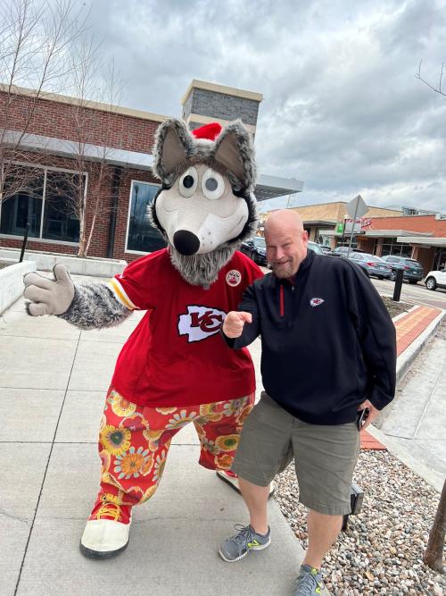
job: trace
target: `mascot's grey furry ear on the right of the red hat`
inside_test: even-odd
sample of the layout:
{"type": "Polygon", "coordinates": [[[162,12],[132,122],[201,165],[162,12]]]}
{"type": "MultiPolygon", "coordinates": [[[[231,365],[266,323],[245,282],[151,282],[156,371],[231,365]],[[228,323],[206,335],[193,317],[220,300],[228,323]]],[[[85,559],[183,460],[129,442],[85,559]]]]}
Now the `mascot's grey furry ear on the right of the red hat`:
{"type": "Polygon", "coordinates": [[[240,121],[228,124],[216,140],[215,161],[227,168],[252,192],[256,183],[254,147],[251,134],[240,121]]]}

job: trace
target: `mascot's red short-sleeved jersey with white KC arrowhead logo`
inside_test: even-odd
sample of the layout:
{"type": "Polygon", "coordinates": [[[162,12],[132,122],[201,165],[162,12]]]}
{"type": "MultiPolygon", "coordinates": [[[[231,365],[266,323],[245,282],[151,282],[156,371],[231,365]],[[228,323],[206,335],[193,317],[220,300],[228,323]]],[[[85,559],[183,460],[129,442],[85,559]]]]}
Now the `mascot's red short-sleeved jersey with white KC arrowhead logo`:
{"type": "Polygon", "coordinates": [[[219,329],[262,275],[238,251],[209,290],[183,280],[166,248],[129,264],[110,281],[111,290],[124,306],[147,313],[120,352],[112,387],[150,407],[194,406],[252,393],[249,352],[227,348],[219,329]]]}

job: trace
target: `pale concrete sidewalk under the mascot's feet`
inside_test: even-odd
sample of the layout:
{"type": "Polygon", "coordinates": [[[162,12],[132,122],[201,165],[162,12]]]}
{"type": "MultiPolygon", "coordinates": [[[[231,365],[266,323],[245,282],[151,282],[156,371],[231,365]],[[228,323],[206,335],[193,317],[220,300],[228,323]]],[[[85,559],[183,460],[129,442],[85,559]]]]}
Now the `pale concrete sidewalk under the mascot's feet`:
{"type": "MultiPolygon", "coordinates": [[[[428,316],[420,323],[417,309],[400,317],[404,333],[417,326],[401,370],[439,315],[431,323],[428,316]]],[[[30,318],[19,300],[0,318],[0,594],[289,594],[302,550],[274,500],[271,547],[235,565],[219,558],[219,542],[246,513],[234,491],[197,465],[192,425],[172,444],[160,490],[135,508],[128,550],[109,561],[80,555],[98,489],[104,393],[140,316],[116,329],[79,332],[55,317],[30,318]]],[[[251,351],[260,379],[259,341],[251,351]]]]}

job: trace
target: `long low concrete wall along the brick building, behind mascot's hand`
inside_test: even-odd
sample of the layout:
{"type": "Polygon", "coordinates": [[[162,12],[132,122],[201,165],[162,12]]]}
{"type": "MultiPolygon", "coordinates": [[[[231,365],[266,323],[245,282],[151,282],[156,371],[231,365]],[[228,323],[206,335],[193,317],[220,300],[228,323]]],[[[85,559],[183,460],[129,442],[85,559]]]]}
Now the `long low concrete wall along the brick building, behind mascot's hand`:
{"type": "MultiPolygon", "coordinates": [[[[13,248],[0,249],[0,260],[13,258],[18,261],[20,251],[13,248]]],[[[64,264],[75,275],[94,275],[95,277],[113,277],[122,273],[126,261],[104,258],[79,258],[78,256],[56,255],[52,253],[27,252],[24,262],[36,263],[38,271],[53,271],[55,264],[64,264]]],[[[8,267],[9,269],[9,267],[8,267]]]]}

